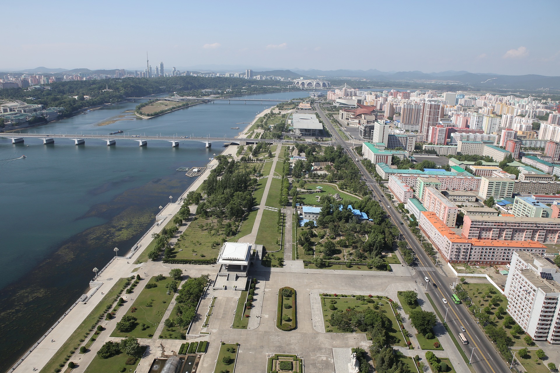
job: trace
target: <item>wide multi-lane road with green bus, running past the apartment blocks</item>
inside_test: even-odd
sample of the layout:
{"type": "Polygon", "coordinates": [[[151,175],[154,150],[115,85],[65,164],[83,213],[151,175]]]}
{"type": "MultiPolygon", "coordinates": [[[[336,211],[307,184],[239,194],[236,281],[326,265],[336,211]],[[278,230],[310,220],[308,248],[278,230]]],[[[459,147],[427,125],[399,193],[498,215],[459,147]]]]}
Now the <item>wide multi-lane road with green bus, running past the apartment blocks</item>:
{"type": "Polygon", "coordinates": [[[385,196],[385,193],[381,191],[381,188],[371,177],[370,173],[367,172],[366,168],[363,167],[363,164],[353,156],[351,145],[342,140],[342,137],[338,134],[338,131],[334,129],[334,126],[327,119],[318,103],[315,103],[315,108],[328,127],[330,133],[337,139],[336,142],[346,149],[348,155],[353,159],[354,163],[356,163],[356,166],[360,169],[365,178],[366,184],[374,192],[376,196],[375,199],[379,201],[400,233],[404,235],[404,238],[416,254],[420,265],[424,268],[428,268],[428,270],[422,270],[416,267],[416,275],[413,277],[418,284],[424,283],[424,289],[430,294],[430,297],[436,304],[438,310],[440,310],[440,313],[442,315],[446,314],[447,319],[445,321],[447,325],[449,325],[451,332],[457,337],[456,339],[459,340],[458,336],[459,333],[461,333],[460,328],[463,327],[466,329],[466,332],[463,332],[463,334],[465,334],[469,344],[461,344],[461,348],[463,348],[468,358],[473,354],[471,362],[474,369],[478,373],[511,373],[509,367],[492,345],[493,342],[490,342],[479,325],[473,322],[470,311],[464,305],[455,304],[451,301],[451,295],[454,294],[454,292],[451,290],[450,285],[453,281],[456,281],[456,279],[442,275],[442,273],[432,266],[432,261],[428,257],[428,254],[424,252],[423,248],[416,240],[416,237],[414,237],[412,232],[408,229],[407,222],[401,219],[400,214],[395,211],[393,203],[385,196]],[[426,283],[424,277],[430,278],[430,282],[426,283]],[[437,289],[433,287],[433,284],[438,285],[437,289]],[[447,303],[444,303],[444,298],[448,300],[447,303]]]}

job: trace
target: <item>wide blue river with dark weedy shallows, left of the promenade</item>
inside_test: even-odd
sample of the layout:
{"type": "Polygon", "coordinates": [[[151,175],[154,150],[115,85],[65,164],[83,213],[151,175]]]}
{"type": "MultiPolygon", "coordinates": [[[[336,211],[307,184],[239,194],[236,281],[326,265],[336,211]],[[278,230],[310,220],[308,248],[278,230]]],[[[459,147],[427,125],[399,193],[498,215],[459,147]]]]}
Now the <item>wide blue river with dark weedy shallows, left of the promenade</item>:
{"type": "MultiPolygon", "coordinates": [[[[306,92],[246,96],[289,100],[306,92]]],[[[151,120],[137,103],[90,111],[28,133],[232,137],[272,102],[207,103],[151,120]],[[116,121],[115,121],[116,120],[116,121]],[[108,124],[109,123],[109,124],[108,124]],[[240,130],[231,129],[239,127],[240,130]]],[[[118,135],[114,136],[118,138],[118,135]]],[[[183,141],[0,139],[0,371],[5,371],[88,289],[94,267],[126,253],[154,223],[158,206],[193,181],[179,167],[206,166],[223,143],[207,149],[183,141]],[[26,155],[27,158],[18,158],[26,155]]]]}

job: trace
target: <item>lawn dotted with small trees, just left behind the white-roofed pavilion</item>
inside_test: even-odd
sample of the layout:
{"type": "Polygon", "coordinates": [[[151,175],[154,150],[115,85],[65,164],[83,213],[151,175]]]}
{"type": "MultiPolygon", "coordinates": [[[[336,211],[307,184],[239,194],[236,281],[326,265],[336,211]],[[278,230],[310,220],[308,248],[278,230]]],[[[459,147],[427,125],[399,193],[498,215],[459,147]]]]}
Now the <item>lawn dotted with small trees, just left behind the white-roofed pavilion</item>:
{"type": "Polygon", "coordinates": [[[194,218],[185,232],[177,239],[170,258],[177,259],[211,259],[217,258],[222,247],[220,239],[223,234],[216,233],[216,219],[194,218]],[[206,229],[210,223],[214,229],[206,229]],[[203,225],[200,228],[200,225],[203,225]],[[217,245],[213,243],[218,242],[217,245]]]}

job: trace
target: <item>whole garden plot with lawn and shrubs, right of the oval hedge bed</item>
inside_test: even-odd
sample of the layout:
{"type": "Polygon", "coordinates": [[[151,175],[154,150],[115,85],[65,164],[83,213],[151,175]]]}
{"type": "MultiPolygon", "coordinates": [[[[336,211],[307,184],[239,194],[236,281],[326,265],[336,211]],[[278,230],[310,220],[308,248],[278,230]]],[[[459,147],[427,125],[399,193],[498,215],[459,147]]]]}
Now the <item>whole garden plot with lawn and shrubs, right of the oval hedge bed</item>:
{"type": "Polygon", "coordinates": [[[391,344],[401,347],[408,346],[388,298],[344,294],[323,294],[320,298],[327,333],[367,334],[372,325],[365,320],[371,319],[375,320],[376,324],[379,322],[383,325],[389,334],[391,344]],[[353,317],[359,320],[364,319],[364,321],[353,323],[353,317]]]}

